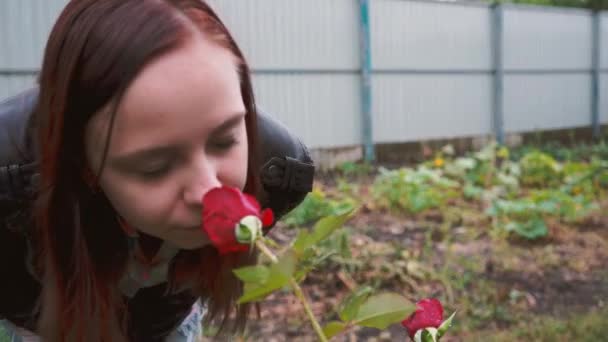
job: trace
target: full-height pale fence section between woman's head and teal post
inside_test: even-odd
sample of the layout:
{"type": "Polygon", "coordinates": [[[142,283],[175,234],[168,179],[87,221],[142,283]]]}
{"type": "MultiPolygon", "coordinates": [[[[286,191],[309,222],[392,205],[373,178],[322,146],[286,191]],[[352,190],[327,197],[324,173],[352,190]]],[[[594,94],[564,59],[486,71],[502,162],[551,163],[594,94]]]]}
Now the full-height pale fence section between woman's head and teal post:
{"type": "Polygon", "coordinates": [[[210,4],[249,60],[261,107],[310,147],[361,144],[359,77],[332,73],[357,70],[361,64],[357,1],[210,4]],[[277,70],[299,72],[274,74],[277,70]],[[315,73],[302,74],[307,71],[315,73]]]}

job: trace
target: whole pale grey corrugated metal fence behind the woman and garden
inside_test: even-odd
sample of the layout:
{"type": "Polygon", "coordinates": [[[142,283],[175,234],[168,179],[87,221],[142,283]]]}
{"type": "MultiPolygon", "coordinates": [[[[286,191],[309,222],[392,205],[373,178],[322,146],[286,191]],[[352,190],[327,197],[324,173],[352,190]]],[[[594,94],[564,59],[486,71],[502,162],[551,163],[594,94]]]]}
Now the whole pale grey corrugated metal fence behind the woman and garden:
{"type": "MultiPolygon", "coordinates": [[[[0,98],[66,0],[0,1],[0,98]]],[[[404,0],[210,0],[258,103],[312,148],[608,123],[608,13],[404,0]]],[[[370,156],[373,150],[370,148],[370,156]]]]}

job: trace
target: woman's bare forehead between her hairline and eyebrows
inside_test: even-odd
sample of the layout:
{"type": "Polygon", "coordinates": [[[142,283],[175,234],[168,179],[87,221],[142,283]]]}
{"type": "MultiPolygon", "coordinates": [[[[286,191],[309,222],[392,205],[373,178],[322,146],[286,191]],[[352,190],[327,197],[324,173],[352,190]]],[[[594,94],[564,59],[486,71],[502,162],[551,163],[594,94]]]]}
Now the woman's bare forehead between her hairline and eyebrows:
{"type": "Polygon", "coordinates": [[[147,65],[127,88],[119,112],[127,119],[146,121],[184,107],[211,111],[237,110],[242,105],[231,52],[193,39],[147,65]]]}

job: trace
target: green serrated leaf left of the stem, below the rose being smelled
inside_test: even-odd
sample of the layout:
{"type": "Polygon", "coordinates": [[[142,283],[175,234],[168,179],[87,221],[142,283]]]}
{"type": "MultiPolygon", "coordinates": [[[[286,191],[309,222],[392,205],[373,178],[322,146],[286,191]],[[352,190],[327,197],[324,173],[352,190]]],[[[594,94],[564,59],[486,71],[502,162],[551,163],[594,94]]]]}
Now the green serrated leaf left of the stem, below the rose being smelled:
{"type": "Polygon", "coordinates": [[[248,303],[265,298],[270,293],[289,283],[296,268],[297,258],[293,253],[286,253],[277,264],[270,266],[266,282],[262,284],[245,283],[244,293],[238,303],[248,303]]]}

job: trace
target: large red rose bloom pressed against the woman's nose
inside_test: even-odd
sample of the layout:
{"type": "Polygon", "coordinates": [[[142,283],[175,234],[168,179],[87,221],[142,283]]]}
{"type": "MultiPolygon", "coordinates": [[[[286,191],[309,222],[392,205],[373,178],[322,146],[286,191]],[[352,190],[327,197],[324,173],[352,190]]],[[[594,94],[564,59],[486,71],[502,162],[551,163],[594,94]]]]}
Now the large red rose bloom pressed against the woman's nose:
{"type": "Polygon", "coordinates": [[[262,227],[270,226],[274,221],[272,210],[261,210],[255,197],[237,188],[221,186],[209,190],[203,197],[202,229],[220,254],[249,249],[248,244],[240,243],[236,238],[236,229],[248,216],[257,217],[262,227]]]}

